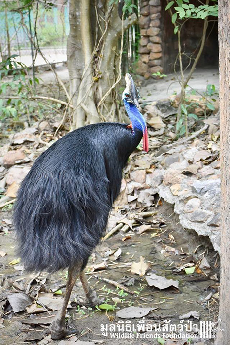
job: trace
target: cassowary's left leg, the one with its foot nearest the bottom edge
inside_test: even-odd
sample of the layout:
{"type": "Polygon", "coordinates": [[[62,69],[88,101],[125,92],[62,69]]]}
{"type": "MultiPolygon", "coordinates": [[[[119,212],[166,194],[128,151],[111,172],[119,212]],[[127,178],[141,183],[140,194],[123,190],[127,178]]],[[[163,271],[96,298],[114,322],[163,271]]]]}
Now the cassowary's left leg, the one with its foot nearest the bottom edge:
{"type": "MultiPolygon", "coordinates": [[[[73,286],[76,282],[77,277],[79,276],[80,269],[79,267],[69,267],[68,270],[68,281],[66,284],[66,293],[63,300],[62,308],[58,311],[56,318],[52,321],[49,327],[49,333],[51,334],[52,339],[61,339],[66,335],[73,333],[73,331],[67,331],[65,328],[65,317],[66,310],[71,296],[73,286]]],[[[74,332],[75,333],[75,332],[74,332]]]]}

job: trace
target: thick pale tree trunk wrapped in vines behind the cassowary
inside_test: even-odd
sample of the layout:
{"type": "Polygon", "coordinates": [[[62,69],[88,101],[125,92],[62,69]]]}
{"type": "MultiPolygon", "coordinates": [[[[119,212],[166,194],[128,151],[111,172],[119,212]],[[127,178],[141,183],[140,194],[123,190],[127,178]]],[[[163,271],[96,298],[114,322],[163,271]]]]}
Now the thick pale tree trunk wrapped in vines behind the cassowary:
{"type": "Polygon", "coordinates": [[[119,38],[137,17],[132,14],[122,20],[118,4],[110,2],[70,0],[67,57],[74,106],[72,129],[118,119],[119,38]]]}

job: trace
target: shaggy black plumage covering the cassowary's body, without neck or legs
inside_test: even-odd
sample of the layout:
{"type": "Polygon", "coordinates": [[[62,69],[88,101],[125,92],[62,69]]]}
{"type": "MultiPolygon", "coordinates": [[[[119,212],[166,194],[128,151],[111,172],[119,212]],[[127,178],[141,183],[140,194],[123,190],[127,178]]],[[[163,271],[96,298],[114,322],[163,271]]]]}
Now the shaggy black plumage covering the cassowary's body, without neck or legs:
{"type": "Polygon", "coordinates": [[[37,158],[14,210],[18,254],[28,271],[85,267],[141,138],[127,125],[94,124],[67,134],[37,158]]]}

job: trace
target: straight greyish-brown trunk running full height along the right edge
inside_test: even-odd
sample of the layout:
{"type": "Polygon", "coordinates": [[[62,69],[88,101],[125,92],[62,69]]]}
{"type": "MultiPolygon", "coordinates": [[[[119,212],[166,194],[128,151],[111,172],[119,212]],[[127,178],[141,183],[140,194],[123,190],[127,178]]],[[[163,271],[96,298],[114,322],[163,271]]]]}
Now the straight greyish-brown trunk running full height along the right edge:
{"type": "Polygon", "coordinates": [[[230,1],[219,0],[221,132],[221,284],[215,345],[230,345],[230,1]]]}

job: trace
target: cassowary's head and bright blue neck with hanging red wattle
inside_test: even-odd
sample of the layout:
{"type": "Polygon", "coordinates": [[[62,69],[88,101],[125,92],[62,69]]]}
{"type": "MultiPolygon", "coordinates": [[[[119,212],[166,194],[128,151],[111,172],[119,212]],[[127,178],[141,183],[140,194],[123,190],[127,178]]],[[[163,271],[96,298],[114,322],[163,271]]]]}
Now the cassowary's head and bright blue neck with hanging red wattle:
{"type": "Polygon", "coordinates": [[[127,114],[131,120],[133,133],[135,134],[136,128],[143,132],[143,149],[148,152],[149,142],[146,122],[141,112],[137,109],[139,107],[139,90],[129,73],[126,73],[125,80],[126,88],[123,91],[122,99],[124,101],[127,114]]]}

